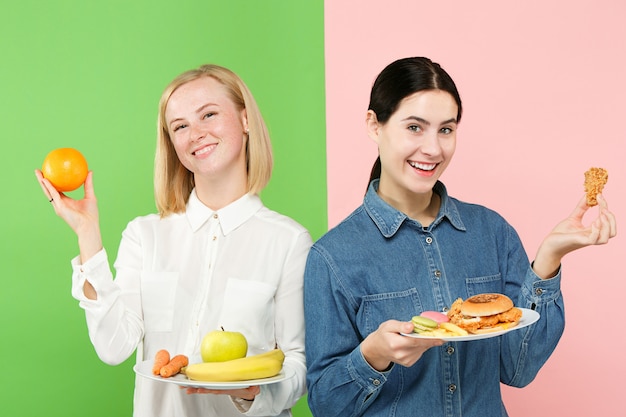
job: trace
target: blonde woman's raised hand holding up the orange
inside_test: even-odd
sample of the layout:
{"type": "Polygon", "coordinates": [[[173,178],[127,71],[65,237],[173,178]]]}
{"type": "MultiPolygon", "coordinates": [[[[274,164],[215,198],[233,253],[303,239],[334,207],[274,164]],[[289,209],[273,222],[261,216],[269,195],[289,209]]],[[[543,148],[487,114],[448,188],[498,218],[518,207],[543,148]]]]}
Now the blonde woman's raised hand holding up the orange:
{"type": "Polygon", "coordinates": [[[35,170],[35,176],[44,195],[52,204],[55,213],[61,217],[78,236],[81,263],[87,261],[102,249],[98,204],[93,189],[93,174],[87,174],[82,200],[74,200],[59,193],[54,186],[43,177],[41,170],[35,170]]]}

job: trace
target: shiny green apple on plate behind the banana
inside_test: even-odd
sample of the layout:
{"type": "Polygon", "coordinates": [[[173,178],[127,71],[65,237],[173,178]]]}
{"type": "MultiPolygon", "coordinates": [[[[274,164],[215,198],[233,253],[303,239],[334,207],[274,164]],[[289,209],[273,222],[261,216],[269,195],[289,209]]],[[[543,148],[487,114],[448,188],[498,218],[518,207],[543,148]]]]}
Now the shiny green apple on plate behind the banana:
{"type": "Polygon", "coordinates": [[[225,362],[245,358],[248,341],[240,332],[213,330],[202,338],[200,355],[203,362],[225,362]]]}

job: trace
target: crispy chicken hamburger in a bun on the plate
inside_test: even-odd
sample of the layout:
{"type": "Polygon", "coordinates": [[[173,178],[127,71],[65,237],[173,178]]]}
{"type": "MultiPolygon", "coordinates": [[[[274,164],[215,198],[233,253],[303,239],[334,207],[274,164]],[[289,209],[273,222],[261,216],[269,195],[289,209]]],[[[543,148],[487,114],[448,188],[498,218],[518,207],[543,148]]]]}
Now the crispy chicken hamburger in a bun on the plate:
{"type": "Polygon", "coordinates": [[[458,298],[448,311],[450,321],[470,333],[482,334],[517,326],[522,310],[504,294],[485,293],[458,298]]]}

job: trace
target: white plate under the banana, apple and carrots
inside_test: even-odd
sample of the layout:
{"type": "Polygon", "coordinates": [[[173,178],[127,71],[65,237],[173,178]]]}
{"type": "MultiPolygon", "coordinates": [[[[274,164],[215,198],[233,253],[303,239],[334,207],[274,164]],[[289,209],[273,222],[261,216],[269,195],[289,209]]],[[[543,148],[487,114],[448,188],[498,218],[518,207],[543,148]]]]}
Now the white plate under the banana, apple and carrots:
{"type": "Polygon", "coordinates": [[[183,374],[177,374],[169,378],[163,378],[159,375],[154,375],[152,373],[152,364],[154,361],[147,360],[141,363],[135,364],[133,367],[133,371],[137,375],[140,375],[144,378],[152,379],[154,381],[167,382],[170,384],[180,385],[183,387],[194,387],[194,388],[206,388],[206,389],[218,389],[218,390],[226,390],[226,389],[239,389],[239,388],[248,388],[255,385],[267,385],[267,384],[275,384],[276,382],[284,381],[285,379],[291,378],[294,375],[294,370],[286,370],[283,368],[280,373],[276,376],[270,378],[263,379],[248,379],[245,381],[235,381],[235,382],[210,382],[210,381],[194,381],[192,379],[187,378],[183,374]]]}

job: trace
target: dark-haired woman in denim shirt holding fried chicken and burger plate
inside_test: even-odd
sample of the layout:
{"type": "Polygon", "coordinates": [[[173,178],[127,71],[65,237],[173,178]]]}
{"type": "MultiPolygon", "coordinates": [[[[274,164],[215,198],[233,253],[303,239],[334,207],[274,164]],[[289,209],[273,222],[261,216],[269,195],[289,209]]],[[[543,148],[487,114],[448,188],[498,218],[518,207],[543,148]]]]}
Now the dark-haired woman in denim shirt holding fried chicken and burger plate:
{"type": "Polygon", "coordinates": [[[311,248],[305,270],[308,401],[316,416],[506,416],[500,384],[530,383],[564,328],[561,259],[607,243],[615,218],[582,224],[584,198],[530,263],[494,211],[448,195],[462,106],[427,58],[388,65],[366,126],[379,151],[363,204],[311,248]],[[459,297],[502,293],[540,319],[467,342],[403,336],[411,317],[459,297]]]}

